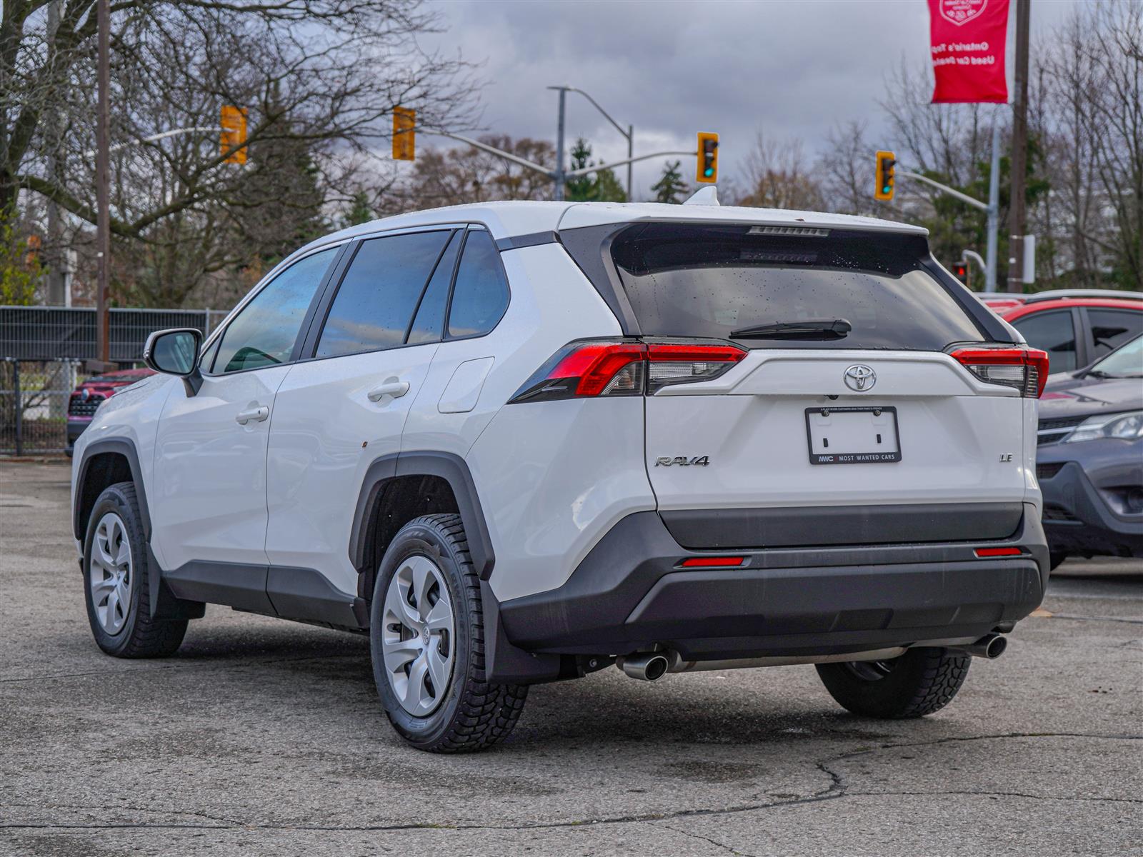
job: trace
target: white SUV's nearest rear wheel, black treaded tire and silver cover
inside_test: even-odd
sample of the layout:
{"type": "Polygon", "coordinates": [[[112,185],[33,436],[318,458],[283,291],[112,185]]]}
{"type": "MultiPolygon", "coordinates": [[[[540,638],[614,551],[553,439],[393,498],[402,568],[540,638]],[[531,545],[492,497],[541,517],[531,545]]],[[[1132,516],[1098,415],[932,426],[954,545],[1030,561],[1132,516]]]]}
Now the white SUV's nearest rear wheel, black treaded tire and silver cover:
{"type": "Polygon", "coordinates": [[[512,731],[528,688],[485,680],[483,633],[480,578],[459,515],[424,515],[405,524],[377,572],[369,642],[382,706],[414,747],[469,752],[512,731]]]}

